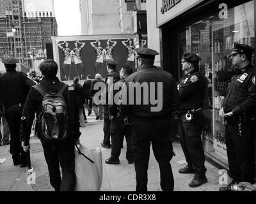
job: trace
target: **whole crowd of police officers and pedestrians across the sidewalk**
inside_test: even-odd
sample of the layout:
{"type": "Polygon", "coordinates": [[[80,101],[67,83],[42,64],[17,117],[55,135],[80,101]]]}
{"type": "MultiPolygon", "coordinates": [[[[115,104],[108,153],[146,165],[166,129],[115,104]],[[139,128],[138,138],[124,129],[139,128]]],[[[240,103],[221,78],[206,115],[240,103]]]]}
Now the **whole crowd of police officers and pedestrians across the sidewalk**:
{"type": "MultiPolygon", "coordinates": [[[[231,191],[230,186],[239,182],[255,183],[255,69],[252,52],[253,48],[248,45],[235,44],[231,54],[236,75],[229,84],[220,115],[227,121],[225,138],[233,180],[220,191],[231,191]]],[[[201,58],[192,53],[184,54],[181,63],[185,75],[175,82],[170,73],[154,66],[156,55],[159,55],[156,50],[136,49],[139,69],[135,73],[127,65],[118,71],[116,61],[109,59],[106,80],[102,80],[100,74],[95,76],[95,80],[88,75],[83,86],[79,84],[79,78],[74,78],[70,86],[60,82],[56,77],[58,65],[52,60],[47,59],[40,64],[44,77],[37,81],[32,73],[27,77],[15,71],[15,59],[4,59],[6,73],[0,77],[0,99],[4,112],[1,112],[10,128],[13,164],[27,166],[25,152],[29,150],[29,138],[36,118],[35,131],[44,148],[52,187],[56,191],[74,191],[74,145],[79,144],[79,128],[86,126],[86,107],[88,115],[94,110],[96,119],[104,120],[101,145],[111,148],[106,164],[120,164],[119,156],[125,138],[127,162],[135,166],[136,191],[147,191],[151,145],[159,163],[162,190],[174,189],[175,179],[170,163],[175,156],[171,137],[172,117],[179,122],[180,143],[188,163],[179,173],[195,175],[189,187],[207,183],[201,139],[207,85],[198,67],[201,58]],[[99,84],[105,85],[103,90],[99,84]],[[132,84],[148,84],[150,89],[143,87],[138,92],[132,84]],[[143,97],[147,91],[147,97],[143,97]],[[109,101],[112,94],[118,94],[118,103],[109,101]],[[161,104],[160,110],[156,110],[156,103],[152,103],[150,94],[162,96],[157,99],[157,105],[161,104]],[[131,103],[134,101],[136,103],[131,103]]],[[[5,143],[4,136],[3,145],[5,143]]]]}

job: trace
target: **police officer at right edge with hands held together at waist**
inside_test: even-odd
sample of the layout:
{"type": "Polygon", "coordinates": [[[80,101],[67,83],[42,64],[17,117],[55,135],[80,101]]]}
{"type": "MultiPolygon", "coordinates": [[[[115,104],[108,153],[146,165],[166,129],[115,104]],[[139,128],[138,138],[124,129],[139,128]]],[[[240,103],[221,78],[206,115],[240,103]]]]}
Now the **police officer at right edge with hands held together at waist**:
{"type": "Polygon", "coordinates": [[[220,191],[230,191],[236,182],[255,182],[255,69],[252,66],[253,48],[234,43],[232,64],[236,75],[227,89],[220,115],[227,120],[225,139],[228,166],[233,179],[220,191]]]}

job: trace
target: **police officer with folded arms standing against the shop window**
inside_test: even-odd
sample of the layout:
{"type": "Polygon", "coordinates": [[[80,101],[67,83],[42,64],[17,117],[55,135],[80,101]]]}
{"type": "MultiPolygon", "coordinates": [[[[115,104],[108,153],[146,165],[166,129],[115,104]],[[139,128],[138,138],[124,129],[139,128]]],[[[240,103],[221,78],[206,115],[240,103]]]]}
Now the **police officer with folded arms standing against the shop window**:
{"type": "Polygon", "coordinates": [[[207,85],[204,75],[199,72],[200,60],[202,59],[198,55],[192,53],[183,55],[182,69],[186,75],[178,85],[180,144],[188,163],[188,166],[179,170],[179,173],[195,173],[189,187],[198,187],[207,182],[204,147],[201,140],[204,117],[202,108],[207,85]]]}

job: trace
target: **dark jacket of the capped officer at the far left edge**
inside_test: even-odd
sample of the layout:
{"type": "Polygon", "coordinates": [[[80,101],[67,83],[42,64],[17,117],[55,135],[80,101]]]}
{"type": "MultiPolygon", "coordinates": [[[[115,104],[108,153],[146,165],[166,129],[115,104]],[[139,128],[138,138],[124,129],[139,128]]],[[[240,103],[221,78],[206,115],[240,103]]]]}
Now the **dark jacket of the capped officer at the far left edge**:
{"type": "Polygon", "coordinates": [[[4,106],[24,104],[35,82],[19,71],[7,71],[0,76],[0,101],[4,106]]]}

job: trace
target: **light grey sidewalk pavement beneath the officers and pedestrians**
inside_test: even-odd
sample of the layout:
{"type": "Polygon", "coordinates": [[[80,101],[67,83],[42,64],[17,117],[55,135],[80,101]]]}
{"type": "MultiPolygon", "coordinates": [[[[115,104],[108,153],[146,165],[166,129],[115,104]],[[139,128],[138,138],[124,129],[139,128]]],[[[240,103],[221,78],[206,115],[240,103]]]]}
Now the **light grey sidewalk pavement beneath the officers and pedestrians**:
{"type": "MultiPolygon", "coordinates": [[[[95,115],[88,117],[86,128],[81,128],[81,143],[88,149],[100,147],[103,139],[103,122],[95,120],[95,115]]],[[[28,185],[28,168],[13,166],[12,157],[8,152],[10,145],[0,147],[0,159],[6,158],[3,164],[0,164],[0,191],[53,191],[49,183],[49,174],[47,164],[44,159],[44,152],[40,140],[31,138],[31,163],[35,168],[36,184],[28,185]]],[[[175,191],[218,191],[220,184],[219,169],[205,162],[207,168],[207,184],[200,187],[190,188],[189,182],[193,175],[180,175],[179,169],[184,168],[184,154],[179,142],[173,143],[173,149],[176,156],[173,157],[171,164],[173,176],[175,179],[175,191]]],[[[110,157],[111,149],[102,148],[103,180],[101,191],[135,191],[136,175],[134,164],[128,164],[125,159],[126,143],[120,156],[120,164],[105,164],[105,159],[110,157]]],[[[228,178],[230,181],[230,178],[228,178]]],[[[150,151],[150,161],[148,165],[148,191],[161,191],[159,166],[152,149],[150,151]]]]}

